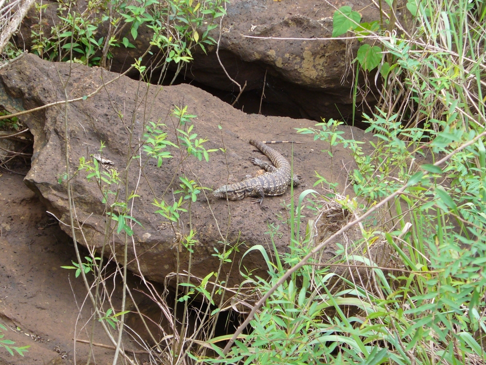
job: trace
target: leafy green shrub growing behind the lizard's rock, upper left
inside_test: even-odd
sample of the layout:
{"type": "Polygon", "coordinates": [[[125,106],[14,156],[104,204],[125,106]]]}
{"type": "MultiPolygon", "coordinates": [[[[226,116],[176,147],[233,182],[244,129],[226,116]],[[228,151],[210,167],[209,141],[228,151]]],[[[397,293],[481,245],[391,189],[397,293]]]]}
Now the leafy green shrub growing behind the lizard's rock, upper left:
{"type": "MultiPolygon", "coordinates": [[[[206,52],[206,46],[215,43],[208,33],[217,26],[214,20],[225,14],[225,1],[90,0],[82,12],[75,10],[75,1],[61,2],[60,21],[49,36],[41,24],[33,27],[32,50],[50,60],[105,66],[115,47],[135,48],[140,27],[146,26],[153,32],[150,45],[165,55],[164,73],[168,63],[189,62],[196,46],[206,52]],[[101,29],[108,32],[104,37],[98,36],[101,29]]],[[[49,4],[35,6],[40,21],[49,4]]]]}

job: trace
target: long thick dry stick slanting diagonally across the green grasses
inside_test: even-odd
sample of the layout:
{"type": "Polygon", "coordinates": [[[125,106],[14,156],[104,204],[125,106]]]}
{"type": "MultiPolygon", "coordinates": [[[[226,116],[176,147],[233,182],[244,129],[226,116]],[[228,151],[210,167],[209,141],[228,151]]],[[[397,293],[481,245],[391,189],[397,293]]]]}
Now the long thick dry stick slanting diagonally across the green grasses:
{"type": "MultiPolygon", "coordinates": [[[[472,145],[473,143],[475,143],[477,140],[479,140],[480,138],[482,138],[485,135],[486,135],[486,131],[484,131],[481,134],[478,134],[471,141],[469,141],[469,142],[465,143],[464,145],[456,148],[450,154],[448,154],[446,157],[444,157],[442,160],[437,161],[434,164],[434,166],[439,166],[439,165],[443,164],[444,162],[446,162],[447,160],[449,160],[453,155],[455,155],[457,152],[461,151],[462,149],[466,148],[467,146],[472,145]]],[[[257,304],[255,304],[255,306],[250,311],[250,313],[248,314],[248,316],[246,317],[246,319],[244,320],[244,322],[240,325],[240,327],[238,327],[238,329],[236,330],[236,332],[233,334],[233,336],[231,337],[231,339],[226,344],[226,347],[223,350],[223,354],[226,355],[228,353],[229,349],[231,348],[231,346],[233,346],[235,340],[238,338],[238,336],[240,335],[240,333],[242,333],[243,329],[245,329],[246,326],[248,326],[248,324],[250,323],[250,321],[253,319],[253,316],[255,315],[255,313],[257,312],[257,310],[261,307],[261,305],[263,303],[265,303],[265,301],[270,297],[270,295],[272,295],[273,292],[275,292],[277,290],[277,288],[280,285],[282,285],[289,278],[290,275],[292,275],[293,273],[295,273],[302,266],[306,265],[307,260],[309,260],[313,255],[315,255],[320,250],[322,250],[324,247],[326,247],[334,238],[336,238],[339,235],[341,235],[342,233],[346,232],[349,228],[351,228],[355,224],[360,223],[365,218],[369,217],[372,213],[374,213],[379,208],[381,208],[383,205],[387,204],[389,201],[391,201],[395,197],[397,197],[400,194],[402,194],[408,186],[409,185],[408,185],[408,182],[407,182],[401,188],[399,188],[397,191],[395,191],[394,193],[392,193],[391,195],[389,195],[387,198],[385,198],[384,200],[382,200],[378,204],[376,204],[374,207],[372,207],[370,210],[368,210],[366,213],[364,213],[364,215],[362,215],[360,218],[355,219],[352,222],[347,223],[347,225],[345,225],[339,231],[337,231],[336,233],[334,233],[331,237],[329,237],[328,239],[326,239],[324,242],[322,242],[318,246],[314,247],[314,249],[312,249],[312,251],[309,254],[307,254],[302,260],[300,260],[293,268],[287,270],[287,272],[284,275],[282,275],[282,277],[277,281],[277,283],[272,288],[270,288],[270,290],[268,292],[266,292],[265,295],[263,295],[263,297],[257,302],[257,304]]],[[[222,359],[222,356],[221,355],[218,356],[218,359],[222,359]]]]}

